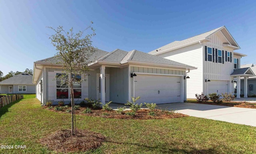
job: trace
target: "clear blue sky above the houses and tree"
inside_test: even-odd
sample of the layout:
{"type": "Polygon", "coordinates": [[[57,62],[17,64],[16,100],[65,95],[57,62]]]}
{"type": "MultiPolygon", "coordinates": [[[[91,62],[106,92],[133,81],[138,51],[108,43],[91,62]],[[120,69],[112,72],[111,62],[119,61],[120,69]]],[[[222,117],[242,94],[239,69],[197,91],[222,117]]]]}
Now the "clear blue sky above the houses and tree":
{"type": "Polygon", "coordinates": [[[96,29],[93,45],[150,52],[226,26],[248,56],[241,64],[255,63],[256,1],[202,0],[0,0],[0,70],[33,69],[33,62],[54,56],[46,26],[83,30],[90,21],[96,29]]]}

